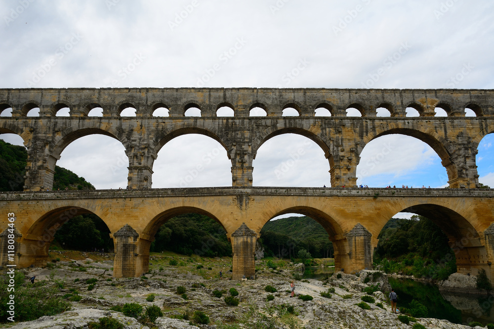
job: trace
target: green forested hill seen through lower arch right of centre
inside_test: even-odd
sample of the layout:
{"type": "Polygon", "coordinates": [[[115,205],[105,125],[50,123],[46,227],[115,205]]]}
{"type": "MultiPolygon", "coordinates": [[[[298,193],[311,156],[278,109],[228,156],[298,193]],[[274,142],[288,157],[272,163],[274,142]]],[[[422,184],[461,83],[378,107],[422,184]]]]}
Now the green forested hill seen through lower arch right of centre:
{"type": "Polygon", "coordinates": [[[261,241],[268,256],[282,256],[285,251],[284,258],[293,257],[300,249],[308,250],[314,258],[329,257],[333,253],[328,233],[307,216],[267,222],[261,230],[261,241]]]}

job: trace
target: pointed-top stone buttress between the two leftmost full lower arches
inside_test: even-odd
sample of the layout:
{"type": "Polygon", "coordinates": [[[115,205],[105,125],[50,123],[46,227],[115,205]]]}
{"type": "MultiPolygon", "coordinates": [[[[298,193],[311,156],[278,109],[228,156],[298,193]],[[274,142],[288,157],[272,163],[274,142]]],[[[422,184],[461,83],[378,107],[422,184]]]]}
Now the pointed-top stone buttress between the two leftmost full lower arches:
{"type": "Polygon", "coordinates": [[[132,278],[141,275],[141,273],[136,273],[138,237],[139,234],[128,224],[113,234],[115,245],[114,278],[132,278]]]}

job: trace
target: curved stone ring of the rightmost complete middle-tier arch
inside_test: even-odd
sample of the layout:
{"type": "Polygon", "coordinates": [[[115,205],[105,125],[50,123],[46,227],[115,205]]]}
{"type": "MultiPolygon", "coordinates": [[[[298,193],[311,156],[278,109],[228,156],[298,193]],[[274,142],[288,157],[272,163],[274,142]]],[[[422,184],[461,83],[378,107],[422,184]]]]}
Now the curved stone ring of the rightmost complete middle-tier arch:
{"type": "Polygon", "coordinates": [[[360,154],[362,153],[364,147],[376,138],[392,134],[406,135],[425,142],[441,158],[441,164],[446,168],[448,180],[453,181],[458,177],[458,168],[450,159],[452,153],[454,152],[454,148],[450,145],[450,143],[437,134],[432,128],[423,129],[421,126],[409,121],[400,121],[388,124],[386,126],[378,126],[375,130],[371,131],[364,138],[362,138],[357,144],[355,152],[356,166],[353,168],[353,170],[355,170],[354,175],[356,174],[357,166],[360,163],[360,154]]]}

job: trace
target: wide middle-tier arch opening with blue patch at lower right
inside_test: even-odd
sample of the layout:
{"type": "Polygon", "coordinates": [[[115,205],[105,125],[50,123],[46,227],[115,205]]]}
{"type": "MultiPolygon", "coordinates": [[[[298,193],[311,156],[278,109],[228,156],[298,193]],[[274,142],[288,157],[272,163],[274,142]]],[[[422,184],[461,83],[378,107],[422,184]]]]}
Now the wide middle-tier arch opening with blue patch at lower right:
{"type": "Polygon", "coordinates": [[[441,160],[445,157],[447,151],[431,136],[392,130],[373,138],[360,152],[357,185],[443,188],[449,181],[441,160]]]}

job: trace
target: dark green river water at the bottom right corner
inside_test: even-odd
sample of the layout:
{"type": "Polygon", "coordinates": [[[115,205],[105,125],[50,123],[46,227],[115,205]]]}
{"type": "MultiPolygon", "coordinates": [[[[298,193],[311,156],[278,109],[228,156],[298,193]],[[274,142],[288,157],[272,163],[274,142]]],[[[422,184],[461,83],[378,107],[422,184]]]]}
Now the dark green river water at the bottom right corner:
{"type": "MultiPolygon", "coordinates": [[[[413,299],[427,307],[429,318],[445,319],[456,324],[468,325],[472,321],[493,323],[493,303],[488,296],[464,295],[439,291],[430,283],[411,279],[389,278],[398,295],[398,308],[408,307],[413,299]]],[[[491,298],[493,299],[493,298],[491,298]]]]}

